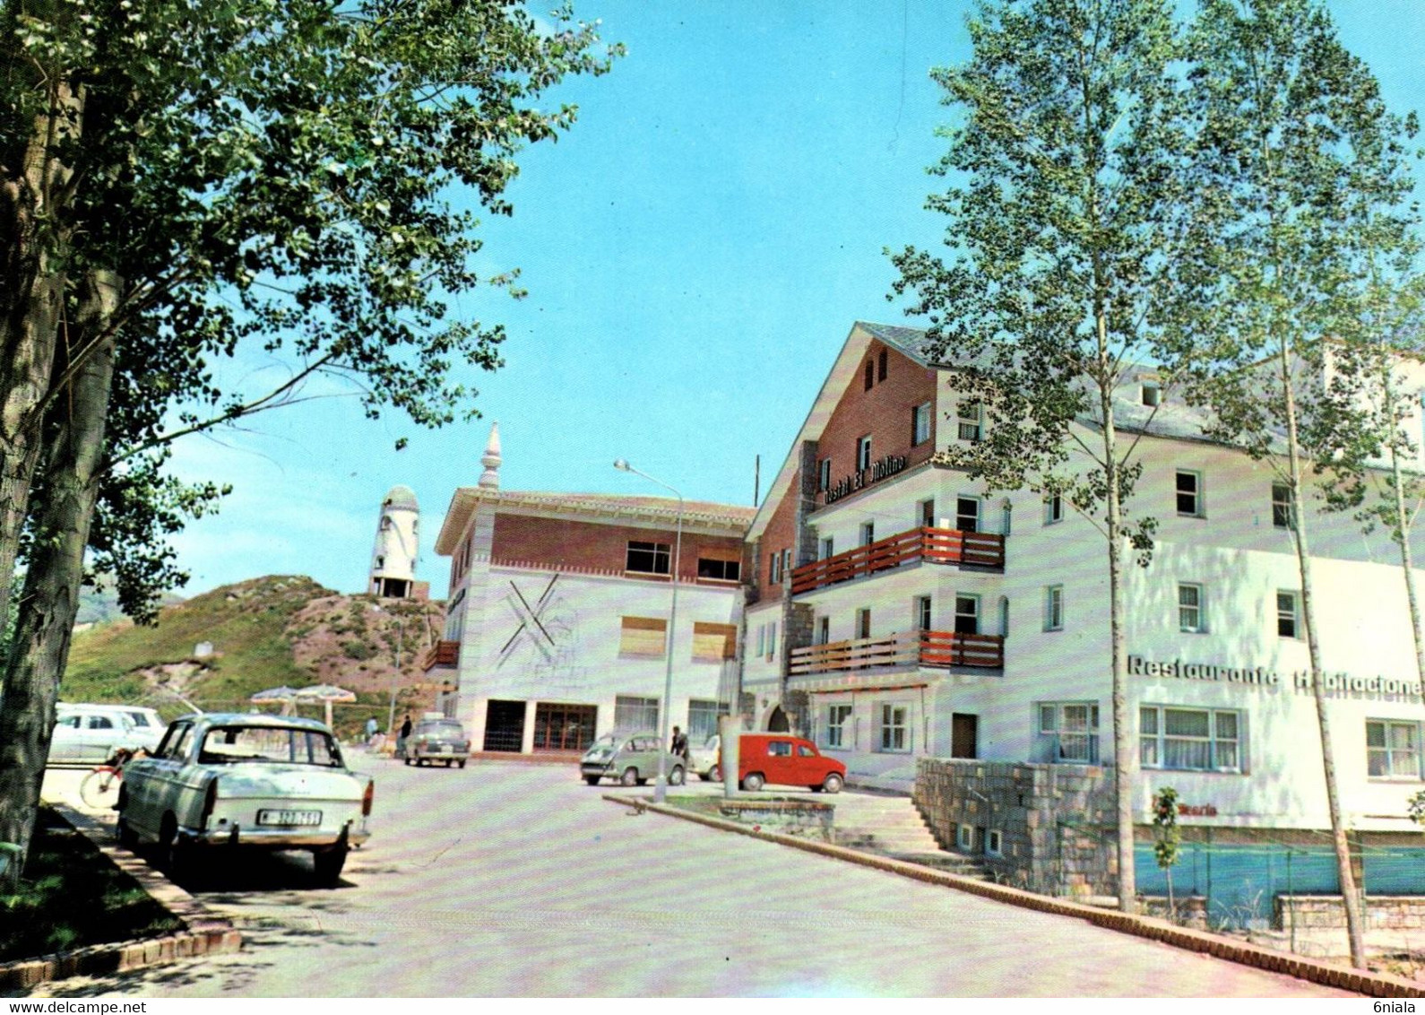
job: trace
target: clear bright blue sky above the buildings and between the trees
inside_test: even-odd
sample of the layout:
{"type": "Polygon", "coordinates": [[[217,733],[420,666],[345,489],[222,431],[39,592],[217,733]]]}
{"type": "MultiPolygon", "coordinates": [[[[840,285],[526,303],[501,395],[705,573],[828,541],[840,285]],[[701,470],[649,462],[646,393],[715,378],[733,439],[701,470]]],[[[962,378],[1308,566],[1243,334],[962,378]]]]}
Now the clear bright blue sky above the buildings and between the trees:
{"type": "MultiPolygon", "coordinates": [[[[1392,107],[1425,113],[1425,4],[1330,6],[1392,107]]],[[[449,562],[430,543],[493,421],[504,489],[661,493],[613,469],[627,458],[690,499],[751,503],[761,455],[765,493],[852,321],[903,321],[884,248],[943,235],[922,210],[950,115],[929,70],[966,58],[968,7],[577,1],[628,54],[556,93],[579,124],[523,154],[513,218],[484,221],[482,267],[522,268],[530,295],[459,304],[509,331],[504,368],[472,376],[483,419],[372,422],[333,396],[180,442],[180,475],[235,486],[174,540],[184,594],[268,573],[361,590],[382,495],[405,483],[426,537],[418,577],[442,596],[449,562]]]]}

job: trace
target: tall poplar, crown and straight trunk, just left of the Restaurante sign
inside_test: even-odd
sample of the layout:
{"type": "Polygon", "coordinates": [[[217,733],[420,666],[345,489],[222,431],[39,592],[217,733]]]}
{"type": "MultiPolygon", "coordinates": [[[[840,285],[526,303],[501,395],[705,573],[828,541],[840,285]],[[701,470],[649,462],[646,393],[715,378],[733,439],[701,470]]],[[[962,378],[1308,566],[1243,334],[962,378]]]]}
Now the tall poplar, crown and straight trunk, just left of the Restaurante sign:
{"type": "MultiPolygon", "coordinates": [[[[1127,502],[1141,472],[1116,395],[1176,311],[1166,208],[1180,197],[1178,33],[1167,0],[988,0],[969,63],[933,71],[959,124],[929,208],[949,254],[908,248],[896,294],[979,402],[983,439],[948,462],[989,489],[1063,496],[1103,536],[1119,905],[1136,907],[1137,751],[1123,582],[1153,520],[1127,502]]],[[[1143,431],[1143,421],[1134,421],[1143,431]]],[[[1144,815],[1146,817],[1146,815],[1144,815]]]]}

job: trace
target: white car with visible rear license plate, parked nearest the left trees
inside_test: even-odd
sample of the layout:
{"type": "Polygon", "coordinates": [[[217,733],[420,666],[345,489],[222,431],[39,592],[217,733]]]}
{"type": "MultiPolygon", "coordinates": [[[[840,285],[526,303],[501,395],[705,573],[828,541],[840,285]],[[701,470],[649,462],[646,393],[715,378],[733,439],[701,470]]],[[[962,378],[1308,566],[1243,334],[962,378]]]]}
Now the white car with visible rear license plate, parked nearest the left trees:
{"type": "Polygon", "coordinates": [[[118,841],[157,843],[170,865],[222,848],[306,850],[332,884],[369,837],[373,793],[315,718],[184,716],[152,757],[124,768],[118,841]]]}

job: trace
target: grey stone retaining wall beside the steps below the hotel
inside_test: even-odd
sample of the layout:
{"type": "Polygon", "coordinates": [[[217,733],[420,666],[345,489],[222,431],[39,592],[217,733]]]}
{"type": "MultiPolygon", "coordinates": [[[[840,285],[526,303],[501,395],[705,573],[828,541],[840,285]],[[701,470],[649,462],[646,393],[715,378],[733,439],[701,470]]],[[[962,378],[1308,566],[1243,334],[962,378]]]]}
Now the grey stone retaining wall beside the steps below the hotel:
{"type": "Polygon", "coordinates": [[[995,877],[1047,895],[1113,895],[1113,784],[1097,766],[919,758],[912,795],[931,833],[958,850],[960,825],[995,877]],[[985,852],[989,833],[1000,850],[985,852]]]}

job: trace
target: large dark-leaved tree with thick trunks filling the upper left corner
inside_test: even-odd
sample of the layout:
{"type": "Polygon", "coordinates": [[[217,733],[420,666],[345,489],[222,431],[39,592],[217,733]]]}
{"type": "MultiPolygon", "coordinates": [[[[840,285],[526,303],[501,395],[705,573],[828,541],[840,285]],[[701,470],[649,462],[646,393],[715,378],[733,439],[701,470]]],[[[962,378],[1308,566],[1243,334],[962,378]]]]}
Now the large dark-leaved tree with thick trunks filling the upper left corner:
{"type": "MultiPolygon", "coordinates": [[[[497,366],[503,332],[450,298],[517,289],[476,272],[477,218],[452,195],[509,214],[522,147],[574,120],[546,93],[614,56],[551,17],[500,0],[4,0],[0,614],[27,525],[33,542],[0,840],[28,838],[95,512],[103,553],[215,492],[162,479],[165,440],[291,402],[315,373],[352,381],[369,415],[469,411],[456,368],[497,366]],[[286,379],[225,388],[215,365],[244,352],[286,379]]],[[[165,567],[161,550],[127,559],[165,567]]]]}

